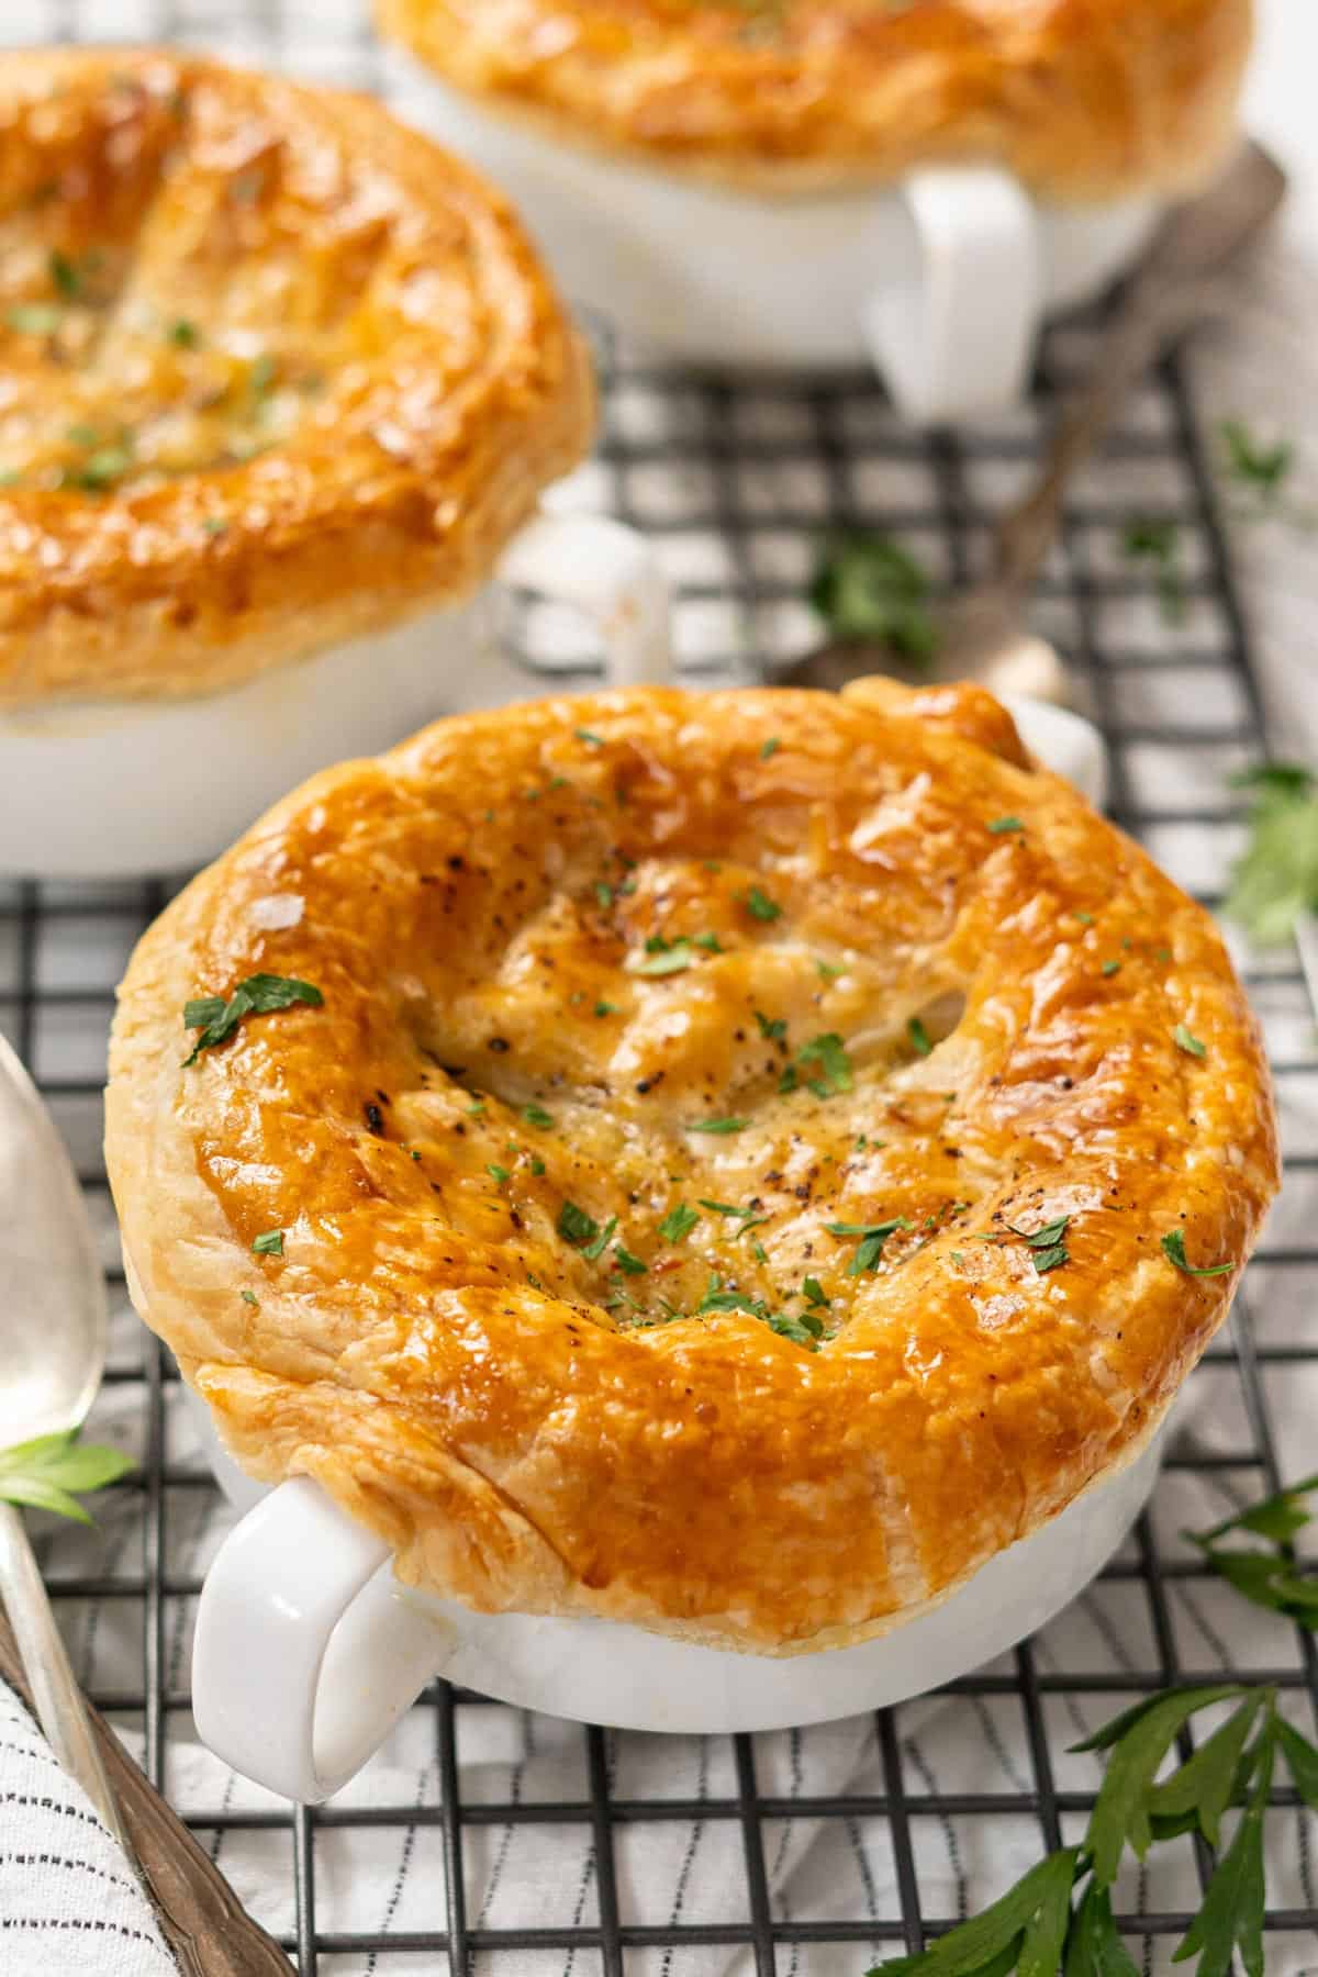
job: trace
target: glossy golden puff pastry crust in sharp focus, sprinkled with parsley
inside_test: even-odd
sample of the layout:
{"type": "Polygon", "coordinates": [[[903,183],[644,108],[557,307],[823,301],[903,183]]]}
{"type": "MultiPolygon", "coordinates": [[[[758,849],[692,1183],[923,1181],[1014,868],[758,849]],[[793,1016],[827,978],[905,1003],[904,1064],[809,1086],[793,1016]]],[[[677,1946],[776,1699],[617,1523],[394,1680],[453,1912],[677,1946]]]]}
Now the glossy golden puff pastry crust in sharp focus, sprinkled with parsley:
{"type": "Polygon", "coordinates": [[[982,690],[891,682],[316,777],[142,939],[107,1115],[134,1303],[247,1471],[482,1611],[767,1655],[1124,1463],[1277,1188],[1207,913],[982,690]],[[184,1066],[257,973],[324,1000],[184,1066]]]}

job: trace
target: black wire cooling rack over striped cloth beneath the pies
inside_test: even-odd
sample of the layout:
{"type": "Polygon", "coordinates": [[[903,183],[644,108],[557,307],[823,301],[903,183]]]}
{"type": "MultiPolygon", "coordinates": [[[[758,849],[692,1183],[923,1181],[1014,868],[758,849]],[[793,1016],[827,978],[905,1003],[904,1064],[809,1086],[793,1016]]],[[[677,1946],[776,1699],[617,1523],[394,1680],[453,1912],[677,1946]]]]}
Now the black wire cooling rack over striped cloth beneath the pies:
{"type": "MultiPolygon", "coordinates": [[[[381,79],[356,0],[49,0],[32,12],[34,40],[182,40],[332,81],[381,79]]],[[[818,637],[802,591],[830,530],[885,530],[941,589],[982,567],[990,514],[1028,474],[1093,334],[1095,318],[1053,330],[1031,403],[974,437],[905,431],[867,380],[701,382],[605,336],[601,445],[569,498],[658,542],[690,680],[757,678],[818,637]]],[[[1103,726],[1112,815],[1213,903],[1239,836],[1227,779],[1265,751],[1265,724],[1207,443],[1176,362],[1077,482],[1035,625],[1069,654],[1103,726]],[[1178,530],[1176,625],[1156,573],[1122,556],[1132,514],[1178,530]]],[[[575,627],[549,607],[539,623],[532,609],[526,631],[571,662],[575,627]]],[[[439,1682],[322,1809],[288,1807],[209,1762],[190,1718],[188,1647],[227,1514],[196,1459],[176,1370],[126,1307],[99,1149],[113,985],[174,884],[0,890],[0,1026],[75,1153],[117,1309],[93,1425],[142,1463],[97,1534],[49,1534],[43,1558],[97,1702],[302,1977],[860,1977],[1079,1835],[1099,1771],[1067,1746],[1122,1698],[1231,1669],[1277,1682],[1312,1730],[1314,1641],[1243,1611],[1178,1538],[1298,1475],[1318,1419],[1314,1012],[1294,955],[1239,951],[1278,1083],[1282,1202],[1190,1384],[1152,1510],[1043,1635],[937,1698],[761,1738],[607,1734],[439,1682]]],[[[1278,1787],[1275,1803],[1269,1969],[1300,1977],[1318,1971],[1314,1833],[1294,1793],[1278,1787]]],[[[1205,1868],[1186,1841],[1122,1882],[1122,1928],[1146,1971],[1168,1965],[1205,1868]]]]}

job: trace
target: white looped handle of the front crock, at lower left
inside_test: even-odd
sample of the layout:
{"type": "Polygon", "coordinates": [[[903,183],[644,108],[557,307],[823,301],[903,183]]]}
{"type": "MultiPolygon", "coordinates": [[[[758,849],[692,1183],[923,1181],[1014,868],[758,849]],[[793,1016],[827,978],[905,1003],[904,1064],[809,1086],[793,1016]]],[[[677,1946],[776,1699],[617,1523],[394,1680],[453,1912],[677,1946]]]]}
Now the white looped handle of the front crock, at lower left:
{"type": "Polygon", "coordinates": [[[445,1623],[389,1548],[296,1477],[237,1524],[198,1603],[192,1708],[217,1758],[285,1799],[346,1785],[445,1665],[445,1623]]]}

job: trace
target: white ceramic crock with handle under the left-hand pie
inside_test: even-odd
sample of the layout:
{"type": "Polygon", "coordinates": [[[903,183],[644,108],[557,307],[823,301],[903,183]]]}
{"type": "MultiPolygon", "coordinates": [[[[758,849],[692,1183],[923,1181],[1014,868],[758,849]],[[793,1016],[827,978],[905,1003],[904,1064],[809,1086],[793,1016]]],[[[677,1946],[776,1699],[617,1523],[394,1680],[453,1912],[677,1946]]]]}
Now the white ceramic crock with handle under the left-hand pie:
{"type": "Polygon", "coordinates": [[[575,605],[611,686],[672,678],[668,585],[620,522],[539,514],[494,585],[194,700],[0,712],[0,872],[121,878],[204,864],[279,797],[441,714],[545,692],[494,633],[498,585],[575,605]]]}

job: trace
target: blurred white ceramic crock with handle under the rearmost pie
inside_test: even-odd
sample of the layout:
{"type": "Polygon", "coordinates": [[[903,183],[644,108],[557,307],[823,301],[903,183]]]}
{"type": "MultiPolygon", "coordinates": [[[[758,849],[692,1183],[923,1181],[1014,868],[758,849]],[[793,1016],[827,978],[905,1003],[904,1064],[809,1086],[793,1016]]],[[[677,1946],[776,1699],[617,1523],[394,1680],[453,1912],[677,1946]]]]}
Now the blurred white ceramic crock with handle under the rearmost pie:
{"type": "Polygon", "coordinates": [[[871,362],[917,421],[1022,397],[1043,316],[1099,295],[1160,212],[1043,206],[970,166],[767,198],[577,150],[389,59],[399,109],[512,196],[573,302],[707,368],[871,362]]]}

